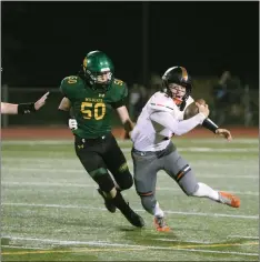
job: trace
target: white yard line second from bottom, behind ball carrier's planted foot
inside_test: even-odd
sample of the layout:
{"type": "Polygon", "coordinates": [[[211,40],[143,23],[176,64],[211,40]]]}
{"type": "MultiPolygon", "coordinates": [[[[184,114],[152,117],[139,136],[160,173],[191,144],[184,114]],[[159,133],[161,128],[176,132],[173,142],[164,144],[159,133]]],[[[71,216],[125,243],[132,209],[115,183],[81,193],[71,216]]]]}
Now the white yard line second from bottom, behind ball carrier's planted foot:
{"type": "MultiPolygon", "coordinates": [[[[86,210],[99,210],[106,211],[104,208],[96,208],[91,205],[73,205],[73,204],[33,204],[33,203],[1,203],[1,205],[10,206],[32,206],[32,208],[58,208],[58,209],[86,209],[86,210]]],[[[137,212],[146,212],[144,210],[134,209],[137,212]]],[[[259,215],[243,215],[243,214],[221,214],[221,213],[200,213],[200,212],[182,212],[182,211],[164,211],[168,214],[188,214],[188,215],[199,215],[199,216],[212,216],[212,218],[233,218],[233,219],[248,219],[248,220],[258,220],[259,215]]]]}

